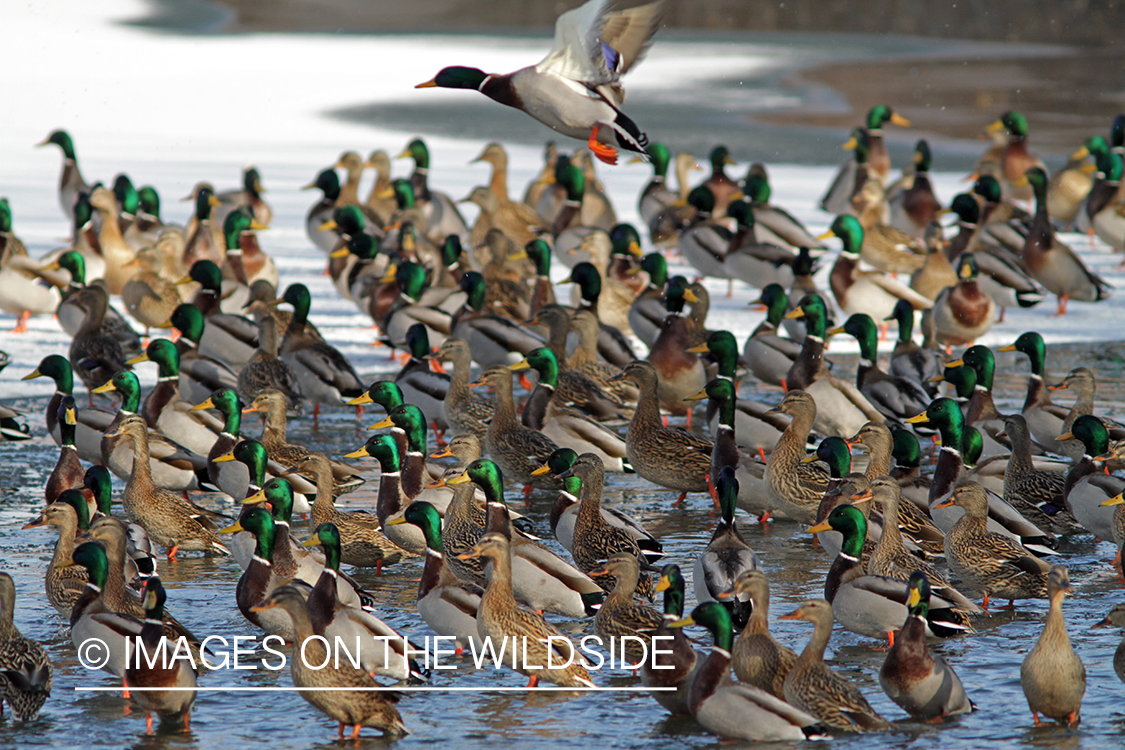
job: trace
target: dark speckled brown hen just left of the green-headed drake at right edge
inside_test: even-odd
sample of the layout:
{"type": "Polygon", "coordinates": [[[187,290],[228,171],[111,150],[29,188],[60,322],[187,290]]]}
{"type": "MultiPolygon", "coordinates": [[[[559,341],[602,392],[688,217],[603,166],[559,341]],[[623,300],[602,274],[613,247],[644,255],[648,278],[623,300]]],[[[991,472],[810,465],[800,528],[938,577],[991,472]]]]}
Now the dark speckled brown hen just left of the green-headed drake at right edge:
{"type": "Polygon", "coordinates": [[[1066,509],[1061,471],[1036,469],[1032,462],[1032,435],[1019,414],[1004,418],[1005,435],[1011,441],[1011,458],[1004,471],[1004,499],[1034,523],[1055,533],[1078,530],[1078,522],[1066,509]]]}

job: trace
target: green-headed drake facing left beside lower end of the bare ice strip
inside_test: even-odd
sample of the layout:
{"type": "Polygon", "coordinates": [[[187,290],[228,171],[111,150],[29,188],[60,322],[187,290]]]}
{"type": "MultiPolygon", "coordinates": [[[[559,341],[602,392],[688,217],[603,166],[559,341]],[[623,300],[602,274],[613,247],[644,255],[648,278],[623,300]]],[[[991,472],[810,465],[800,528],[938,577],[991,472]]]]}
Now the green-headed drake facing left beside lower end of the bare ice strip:
{"type": "Polygon", "coordinates": [[[342,406],[363,392],[363,385],[338,349],[306,331],[312,296],[308,287],[292,283],[278,302],[292,306],[292,319],[281,340],[280,355],[297,374],[300,392],[314,403],[314,414],[321,404],[342,406]]]}

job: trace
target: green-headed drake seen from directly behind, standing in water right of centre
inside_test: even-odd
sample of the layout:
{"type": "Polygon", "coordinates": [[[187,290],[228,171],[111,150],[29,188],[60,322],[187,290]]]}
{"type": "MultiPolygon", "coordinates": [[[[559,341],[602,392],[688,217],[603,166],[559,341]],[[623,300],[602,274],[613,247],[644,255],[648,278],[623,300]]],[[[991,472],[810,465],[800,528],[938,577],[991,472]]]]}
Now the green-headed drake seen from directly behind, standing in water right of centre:
{"type": "Polygon", "coordinates": [[[721,600],[730,612],[735,626],[741,629],[746,626],[753,612],[750,597],[736,594],[720,598],[720,595],[728,591],[744,572],[758,568],[758,555],[742,539],[735,522],[738,480],[735,478],[734,467],[722,468],[716,490],[720,521],[706,549],[695,560],[692,584],[696,602],[721,600]]]}

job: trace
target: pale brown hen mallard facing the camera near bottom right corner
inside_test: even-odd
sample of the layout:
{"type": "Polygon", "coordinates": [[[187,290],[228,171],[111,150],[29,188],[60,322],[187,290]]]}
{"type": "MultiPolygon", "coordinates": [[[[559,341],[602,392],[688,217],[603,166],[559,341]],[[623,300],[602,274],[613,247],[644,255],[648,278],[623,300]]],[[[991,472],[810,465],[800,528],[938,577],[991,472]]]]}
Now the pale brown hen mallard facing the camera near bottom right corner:
{"type": "Polygon", "coordinates": [[[1047,573],[1047,598],[1051,609],[1040,640],[1019,667],[1019,685],[1027,697],[1035,725],[1040,714],[1068,726],[1081,721],[1079,711],[1086,694],[1086,667],[1070,644],[1062,600],[1071,591],[1066,566],[1052,566],[1047,573]]]}

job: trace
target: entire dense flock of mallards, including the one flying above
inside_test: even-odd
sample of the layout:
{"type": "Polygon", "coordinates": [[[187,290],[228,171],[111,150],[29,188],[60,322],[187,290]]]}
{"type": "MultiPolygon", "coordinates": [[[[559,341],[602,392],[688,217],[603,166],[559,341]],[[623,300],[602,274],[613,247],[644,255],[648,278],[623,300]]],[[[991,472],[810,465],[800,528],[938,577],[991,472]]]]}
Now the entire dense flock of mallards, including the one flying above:
{"type": "MultiPolygon", "coordinates": [[[[1020,683],[1036,724],[1041,715],[1077,724],[1086,670],[1063,621],[1071,587],[1056,550],[1061,536],[1076,534],[1125,545],[1125,480],[1110,473],[1123,467],[1116,441],[1125,427],[1095,414],[1089,369],[1045,382],[1047,349],[1034,332],[1000,350],[1020,352],[1030,367],[1023,408],[1002,414],[992,398],[994,354],[974,342],[1004,308],[1038,304],[1047,291],[1060,314],[1068,300],[1109,293],[1055,232],[1089,227],[1125,250],[1125,117],[1048,179],[1027,150],[1026,120],[1005,114],[989,128],[996,146],[972,191],[946,208],[927,175],[925,141],[912,166],[886,183],[882,128],[907,123],[876,107],[847,144],[854,160],[821,201],[834,215],[830,231],[816,237],[770,202],[765,166],[729,178],[726,147],[712,151],[699,184],[690,182],[694,161],[677,155],[680,189],[670,188],[669,151],[620,111],[615,88],[642,55],[659,3],[624,18],[594,0],[559,21],[612,37],[597,49],[604,80],[588,82],[601,97],[593,114],[570,112],[569,94],[543,83],[543,64],[511,76],[447,69],[431,82],[479,88],[513,106],[540,97],[559,117],[548,124],[590,136],[590,152],[550,146],[522,200],[508,193],[500,144],[477,160],[490,165],[489,183],[465,201],[431,187],[421,139],[402,154],[414,161],[410,178],[392,178],[384,152],[366,160],[348,152],[308,186],[322,193],[307,215],[308,238],[325,253],[336,290],[371,317],[381,343],[403,352],[398,373],[375,382],[309,322],[308,288],[279,287],[256,237],[272,215],[255,169],[241,190],[198,184],[191,220],[179,227],[161,218],[154,188],[136,189],[125,175],[112,188],[90,186],[69,134],[44,142],[63,153],[58,197],[73,242],[32,259],[0,201],[0,307],[21,327],[30,315],[55,314],[72,335],[68,352],[46,354],[27,374],[54,381],[45,422],[60,453],[45,505],[25,528],[54,528],[46,597],[73,642],[102,639],[105,669],[126,690],[146,688],[132,697],[150,732],[154,717],[187,729],[197,669],[134,663],[128,644],[158,649],[162,635],[182,636],[198,657],[199,641],[165,608],[153,550],[169,559],[228,554],[242,568],[234,604],[254,629],[289,643],[322,635],[370,644],[358,667],[312,669],[327,654],[310,641],[306,659],[290,660],[302,697],[341,735],[364,726],[398,735],[407,731],[399,694],[370,688],[426,676],[407,640],[377,616],[378,598],[341,566],[382,572],[421,555],[417,611],[426,625],[459,649],[526,639],[511,665],[529,687],[595,686],[591,665],[544,615],[592,618],[605,642],[632,639],[626,656],[644,685],[662,688],[652,695],[672,714],[721,738],[800,740],[892,726],[825,662],[834,623],[886,639],[886,695],[911,717],[940,720],[974,705],[954,665],[929,643],[971,636],[993,598],[1009,606],[1045,598],[1050,609],[1020,683]],[[495,88],[502,78],[504,91],[495,88]],[[616,220],[594,172],[591,152],[611,161],[616,147],[644,152],[654,169],[638,198],[639,229],[616,220]],[[368,169],[377,177],[362,199],[368,169]],[[1019,206],[1026,200],[1034,213],[1019,206]],[[459,202],[480,209],[472,226],[459,202]],[[950,240],[936,224],[945,213],[957,216],[950,240]],[[657,252],[641,252],[646,232],[657,252]],[[826,291],[813,274],[830,237],[843,247],[826,291]],[[745,345],[706,327],[708,291],[700,279],[669,272],[676,254],[701,278],[760,289],[766,319],[745,345]],[[551,281],[555,263],[569,269],[570,304],[551,281]],[[112,305],[118,299],[126,315],[112,305]],[[898,341],[883,369],[885,322],[898,341]],[[146,338],[172,328],[177,337],[145,341],[137,325],[146,338]],[[828,337],[842,334],[860,345],[854,380],[825,354],[828,337]],[[966,349],[954,358],[953,346],[966,349]],[[147,394],[132,371],[144,361],[159,371],[147,394]],[[75,399],[75,376],[88,406],[75,399]],[[739,398],[746,377],[781,387],[783,399],[771,407],[739,398]],[[1074,405],[1053,403],[1056,389],[1073,391],[1074,405]],[[110,392],[115,407],[94,405],[94,395],[110,392]],[[695,413],[700,400],[708,407],[695,413]],[[388,432],[345,457],[287,439],[295,407],[308,405],[315,416],[372,404],[386,414],[372,430],[388,432]],[[263,417],[256,439],[243,430],[248,413],[263,417]],[[669,425],[668,415],[684,416],[687,428],[669,425]],[[431,431],[439,451],[428,458],[431,431]],[[930,436],[940,450],[924,473],[919,437],[930,436]],[[853,467],[858,449],[866,457],[853,467]],[[447,457],[451,463],[431,460],[447,457]],[[370,476],[343,459],[379,464],[371,512],[336,507],[370,476]],[[719,509],[711,539],[685,566],[667,562],[640,522],[603,505],[606,472],[636,473],[680,500],[710,494],[719,509]],[[125,481],[119,497],[112,476],[125,481]],[[505,485],[556,498],[549,525],[569,559],[523,531],[505,485]],[[241,503],[237,517],[192,501],[198,490],[241,503]],[[800,654],[770,633],[770,581],[739,531],[738,509],[762,523],[808,526],[832,558],[825,597],[782,616],[812,625],[800,654]],[[302,540],[292,524],[305,515],[310,534],[302,540]],[[685,568],[698,603],[691,611],[685,568]],[[651,605],[658,594],[660,608],[651,605]],[[685,635],[688,625],[711,633],[709,653],[685,635]],[[670,649],[637,648],[657,635],[670,649]],[[396,644],[389,659],[372,636],[396,644]]],[[[548,61],[564,65],[567,54],[557,42],[548,61]]],[[[4,435],[27,439],[16,416],[0,415],[4,435]]],[[[51,693],[50,661],[12,624],[7,575],[0,602],[0,696],[30,721],[51,693]]],[[[1125,627],[1125,605],[1099,625],[1125,627]]],[[[1125,680],[1125,644],[1114,666],[1125,680]]]]}

